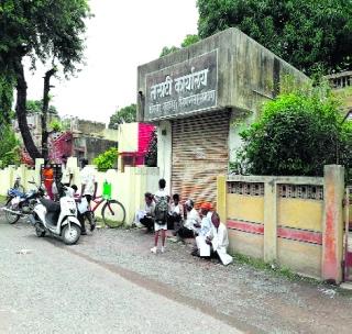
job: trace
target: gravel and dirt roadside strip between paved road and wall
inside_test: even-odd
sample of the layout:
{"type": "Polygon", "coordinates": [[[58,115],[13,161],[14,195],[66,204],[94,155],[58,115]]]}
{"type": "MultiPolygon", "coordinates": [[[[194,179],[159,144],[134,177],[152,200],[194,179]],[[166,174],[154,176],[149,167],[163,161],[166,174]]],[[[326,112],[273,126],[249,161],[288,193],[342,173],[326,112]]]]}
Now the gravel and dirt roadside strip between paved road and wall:
{"type": "Polygon", "coordinates": [[[332,286],[289,280],[241,261],[228,267],[193,257],[191,244],[167,242],[151,254],[144,230],[100,230],[69,252],[255,333],[352,333],[352,294],[332,286]]]}

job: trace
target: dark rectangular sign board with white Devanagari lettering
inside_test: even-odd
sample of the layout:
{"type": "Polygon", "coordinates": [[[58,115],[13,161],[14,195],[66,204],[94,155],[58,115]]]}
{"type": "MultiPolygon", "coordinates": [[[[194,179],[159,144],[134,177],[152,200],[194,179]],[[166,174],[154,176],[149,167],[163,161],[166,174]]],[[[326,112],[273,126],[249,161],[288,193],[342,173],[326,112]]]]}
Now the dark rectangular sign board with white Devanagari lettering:
{"type": "Polygon", "coordinates": [[[217,107],[218,49],[147,74],[145,87],[144,121],[217,107]]]}

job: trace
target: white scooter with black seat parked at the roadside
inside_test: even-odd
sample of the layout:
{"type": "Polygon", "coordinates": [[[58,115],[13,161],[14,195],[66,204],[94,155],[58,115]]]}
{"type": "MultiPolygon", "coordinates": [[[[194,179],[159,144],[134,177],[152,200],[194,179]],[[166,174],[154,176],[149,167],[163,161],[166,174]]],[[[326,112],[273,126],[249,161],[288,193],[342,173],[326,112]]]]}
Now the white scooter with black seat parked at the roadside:
{"type": "Polygon", "coordinates": [[[37,236],[46,233],[62,236],[66,245],[74,245],[80,237],[80,223],[77,219],[75,199],[69,196],[66,188],[65,196],[59,203],[48,199],[38,198],[34,207],[31,222],[34,224],[37,236]]]}

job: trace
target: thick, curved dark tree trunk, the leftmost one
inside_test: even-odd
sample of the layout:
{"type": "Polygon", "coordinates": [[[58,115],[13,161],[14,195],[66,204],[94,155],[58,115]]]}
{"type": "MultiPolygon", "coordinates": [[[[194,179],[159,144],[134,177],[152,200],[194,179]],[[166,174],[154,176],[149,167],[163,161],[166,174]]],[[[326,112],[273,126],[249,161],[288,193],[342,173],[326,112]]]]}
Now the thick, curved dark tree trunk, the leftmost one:
{"type": "Polygon", "coordinates": [[[16,60],[15,63],[15,75],[16,75],[16,105],[15,105],[15,114],[19,122],[19,127],[21,131],[21,135],[23,138],[23,144],[30,154],[33,162],[36,158],[41,158],[42,155],[36,148],[31,132],[29,127],[29,123],[26,121],[26,82],[24,78],[24,70],[21,60],[16,60]]]}

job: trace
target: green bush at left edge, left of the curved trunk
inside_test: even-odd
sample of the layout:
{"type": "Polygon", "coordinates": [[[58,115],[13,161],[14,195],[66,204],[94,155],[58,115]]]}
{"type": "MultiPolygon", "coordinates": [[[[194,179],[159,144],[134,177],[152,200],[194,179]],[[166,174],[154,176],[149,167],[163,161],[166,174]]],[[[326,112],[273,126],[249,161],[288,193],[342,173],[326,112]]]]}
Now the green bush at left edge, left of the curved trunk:
{"type": "Polygon", "coordinates": [[[11,125],[1,125],[0,168],[20,164],[20,143],[11,125]]]}

